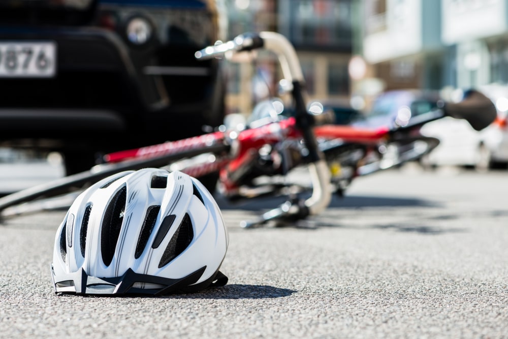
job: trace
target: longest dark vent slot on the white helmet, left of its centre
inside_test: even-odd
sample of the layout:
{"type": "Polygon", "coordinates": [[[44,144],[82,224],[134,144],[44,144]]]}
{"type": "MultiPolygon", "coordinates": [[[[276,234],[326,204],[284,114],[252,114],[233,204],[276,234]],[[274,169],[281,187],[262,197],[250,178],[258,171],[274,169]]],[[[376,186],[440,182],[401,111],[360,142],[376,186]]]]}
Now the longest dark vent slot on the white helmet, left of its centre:
{"type": "Polygon", "coordinates": [[[102,260],[106,266],[111,264],[115,254],[116,243],[122,227],[123,214],[125,213],[125,201],[127,188],[123,186],[109,202],[101,228],[101,252],[102,260]]]}

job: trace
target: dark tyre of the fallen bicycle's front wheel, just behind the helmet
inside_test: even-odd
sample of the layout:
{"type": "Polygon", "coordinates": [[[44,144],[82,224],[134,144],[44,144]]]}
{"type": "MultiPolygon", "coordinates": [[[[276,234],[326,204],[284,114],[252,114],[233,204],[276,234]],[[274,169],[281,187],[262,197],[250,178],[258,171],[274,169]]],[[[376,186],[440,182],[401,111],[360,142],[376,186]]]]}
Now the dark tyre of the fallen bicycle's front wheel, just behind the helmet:
{"type": "Polygon", "coordinates": [[[126,160],[113,164],[102,164],[88,171],[72,174],[56,180],[45,182],[0,198],[0,213],[6,208],[39,198],[51,198],[79,191],[90,182],[96,182],[114,173],[139,170],[146,167],[164,167],[169,163],[203,153],[221,153],[229,150],[227,144],[206,145],[204,147],[185,150],[171,155],[163,155],[139,160],[126,160]]]}

